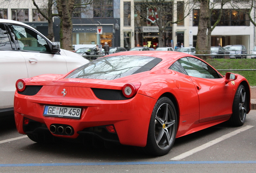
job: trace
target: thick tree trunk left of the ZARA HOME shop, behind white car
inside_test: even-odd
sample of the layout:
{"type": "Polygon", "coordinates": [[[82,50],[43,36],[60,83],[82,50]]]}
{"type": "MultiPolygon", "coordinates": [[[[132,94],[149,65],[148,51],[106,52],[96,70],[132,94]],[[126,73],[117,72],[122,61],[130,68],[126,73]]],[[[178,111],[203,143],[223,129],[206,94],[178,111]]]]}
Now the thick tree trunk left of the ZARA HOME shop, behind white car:
{"type": "Polygon", "coordinates": [[[58,14],[60,16],[60,46],[72,50],[72,12],[74,0],[57,0],[58,14]]]}

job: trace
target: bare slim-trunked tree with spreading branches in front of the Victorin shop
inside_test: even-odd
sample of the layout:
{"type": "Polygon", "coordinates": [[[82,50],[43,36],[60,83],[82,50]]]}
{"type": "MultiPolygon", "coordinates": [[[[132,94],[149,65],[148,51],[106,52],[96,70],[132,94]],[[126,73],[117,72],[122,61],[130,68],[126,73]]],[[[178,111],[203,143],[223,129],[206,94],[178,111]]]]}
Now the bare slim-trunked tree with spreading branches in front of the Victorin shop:
{"type": "MultiPolygon", "coordinates": [[[[189,1],[182,1],[175,4],[173,0],[142,0],[141,5],[135,5],[135,10],[136,8],[138,8],[138,6],[141,6],[139,8],[143,10],[151,10],[152,17],[156,25],[159,27],[159,47],[164,46],[163,31],[168,26],[170,26],[170,24],[178,24],[182,22],[194,8],[194,4],[190,4],[189,1]],[[175,21],[173,21],[173,12],[175,11],[174,8],[178,9],[179,11],[182,11],[182,15],[178,16],[177,20],[175,21]]],[[[141,21],[137,20],[137,22],[141,21]]]]}

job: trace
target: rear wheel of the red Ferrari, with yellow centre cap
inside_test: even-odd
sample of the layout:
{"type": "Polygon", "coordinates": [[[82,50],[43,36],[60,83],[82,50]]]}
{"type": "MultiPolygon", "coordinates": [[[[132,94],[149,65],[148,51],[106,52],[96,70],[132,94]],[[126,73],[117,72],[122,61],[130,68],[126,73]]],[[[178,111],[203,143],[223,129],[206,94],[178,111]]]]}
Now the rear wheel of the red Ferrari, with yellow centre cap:
{"type": "Polygon", "coordinates": [[[172,101],[161,97],[151,114],[145,152],[155,156],[166,155],[175,141],[177,127],[177,114],[172,101]]]}

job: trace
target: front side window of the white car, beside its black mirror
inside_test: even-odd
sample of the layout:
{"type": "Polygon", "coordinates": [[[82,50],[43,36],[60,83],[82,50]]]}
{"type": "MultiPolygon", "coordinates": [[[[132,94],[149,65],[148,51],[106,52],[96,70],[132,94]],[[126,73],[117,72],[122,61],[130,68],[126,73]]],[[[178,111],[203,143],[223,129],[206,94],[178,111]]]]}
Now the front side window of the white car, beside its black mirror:
{"type": "Polygon", "coordinates": [[[12,31],[21,50],[50,52],[47,42],[39,34],[29,28],[12,25],[12,31]]]}

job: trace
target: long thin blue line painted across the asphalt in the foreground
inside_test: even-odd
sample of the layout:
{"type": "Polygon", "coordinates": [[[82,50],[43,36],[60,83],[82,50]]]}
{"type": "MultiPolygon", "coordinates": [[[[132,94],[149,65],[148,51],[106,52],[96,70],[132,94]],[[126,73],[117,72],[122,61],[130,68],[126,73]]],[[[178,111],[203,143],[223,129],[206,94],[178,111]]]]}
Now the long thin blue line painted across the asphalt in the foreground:
{"type": "Polygon", "coordinates": [[[244,164],[256,161],[163,161],[163,162],[89,162],[89,163],[21,163],[0,164],[0,167],[29,167],[29,166],[96,166],[96,165],[169,165],[169,164],[244,164]]]}

